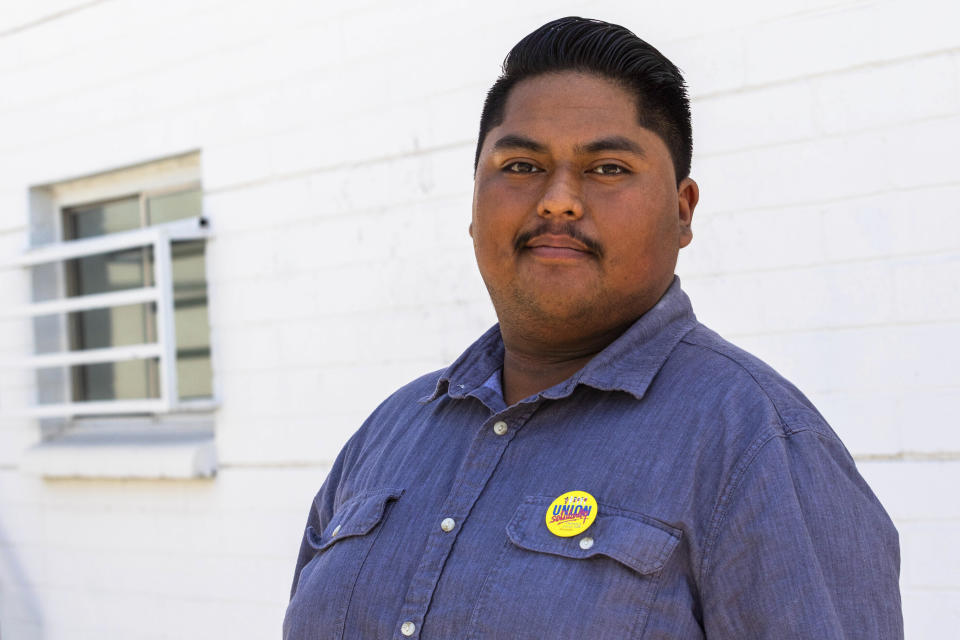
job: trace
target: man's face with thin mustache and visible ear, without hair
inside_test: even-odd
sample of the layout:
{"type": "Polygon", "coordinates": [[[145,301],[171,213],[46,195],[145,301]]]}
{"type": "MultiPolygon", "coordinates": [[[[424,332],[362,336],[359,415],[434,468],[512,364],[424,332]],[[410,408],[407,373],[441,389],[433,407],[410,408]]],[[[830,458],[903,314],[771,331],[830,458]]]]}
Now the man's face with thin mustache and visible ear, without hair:
{"type": "Polygon", "coordinates": [[[697,186],[678,188],[636,109],[593,74],[535,76],[511,91],[483,142],[470,225],[504,329],[561,342],[622,330],[669,287],[697,186]]]}

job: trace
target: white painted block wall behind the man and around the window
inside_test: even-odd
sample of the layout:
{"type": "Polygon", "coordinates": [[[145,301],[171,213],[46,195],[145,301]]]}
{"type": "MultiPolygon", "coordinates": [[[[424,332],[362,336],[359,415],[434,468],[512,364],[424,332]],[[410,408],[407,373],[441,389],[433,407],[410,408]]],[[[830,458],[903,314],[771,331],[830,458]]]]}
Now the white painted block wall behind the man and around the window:
{"type": "MultiPolygon", "coordinates": [[[[686,72],[700,318],[821,408],[901,532],[908,637],[960,623],[958,11],[943,2],[12,2],[0,260],[27,190],[202,153],[218,475],[19,468],[33,380],[0,369],[4,639],[276,637],[306,510],[392,389],[493,322],[475,129],[543,21],[619,21],[686,72]]],[[[30,298],[0,271],[0,304],[30,298]]],[[[32,350],[0,321],[0,358],[32,350]]]]}

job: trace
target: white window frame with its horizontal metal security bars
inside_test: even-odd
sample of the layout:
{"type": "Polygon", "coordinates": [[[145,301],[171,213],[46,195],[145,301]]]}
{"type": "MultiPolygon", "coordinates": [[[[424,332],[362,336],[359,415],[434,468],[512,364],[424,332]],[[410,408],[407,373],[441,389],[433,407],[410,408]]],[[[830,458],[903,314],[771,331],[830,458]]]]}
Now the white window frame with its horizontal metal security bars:
{"type": "MultiPolygon", "coordinates": [[[[59,263],[57,298],[45,302],[21,305],[0,314],[12,317],[38,317],[88,309],[155,302],[157,306],[157,341],[104,349],[65,350],[35,355],[8,363],[21,370],[46,367],[69,367],[79,364],[122,362],[126,360],[157,358],[159,360],[159,398],[135,400],[103,400],[91,402],[67,401],[56,404],[35,404],[25,409],[35,418],[66,418],[82,416],[132,416],[142,414],[173,414],[209,412],[218,406],[214,397],[181,400],[177,385],[176,328],[174,324],[173,274],[171,245],[185,240],[208,240],[210,229],[204,216],[153,225],[130,231],[110,233],[81,240],[63,240],[63,209],[80,204],[115,199],[139,194],[150,194],[199,187],[199,154],[187,154],[162,161],[95,176],[64,181],[32,189],[31,200],[39,202],[31,211],[31,224],[44,231],[47,242],[31,248],[6,267],[31,268],[48,263],[59,263]],[[40,210],[38,210],[40,209],[40,210]],[[153,248],[153,285],[111,293],[66,297],[63,282],[65,263],[74,258],[110,253],[137,247],[153,248]]],[[[37,234],[33,234],[36,236],[37,234]]],[[[66,344],[61,336],[60,344],[66,344]]],[[[72,397],[69,376],[64,382],[68,397],[72,397]]]]}

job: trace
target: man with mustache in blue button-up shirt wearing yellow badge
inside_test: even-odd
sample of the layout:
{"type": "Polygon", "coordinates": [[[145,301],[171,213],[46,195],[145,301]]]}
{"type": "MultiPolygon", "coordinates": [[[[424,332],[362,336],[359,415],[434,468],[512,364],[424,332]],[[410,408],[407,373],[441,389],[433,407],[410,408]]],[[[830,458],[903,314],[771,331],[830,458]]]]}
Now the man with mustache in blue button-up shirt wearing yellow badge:
{"type": "Polygon", "coordinates": [[[676,67],[549,23],[481,117],[499,324],[397,391],[314,501],[284,637],[899,638],[897,534],[837,436],[699,324],[676,67]]]}

